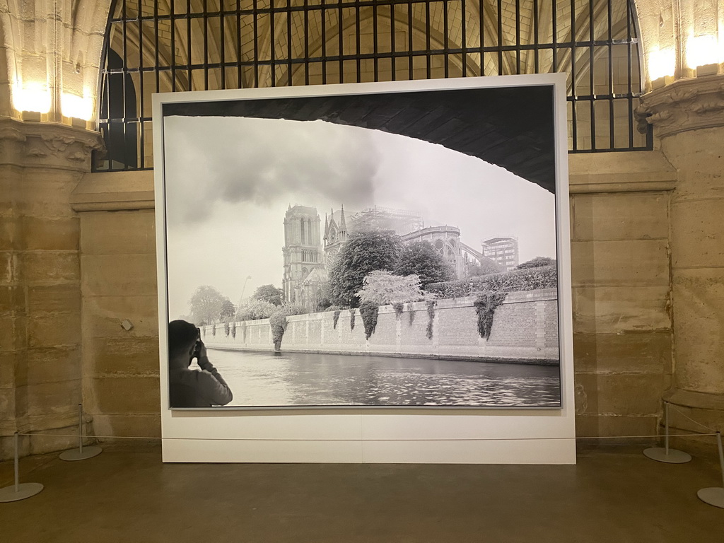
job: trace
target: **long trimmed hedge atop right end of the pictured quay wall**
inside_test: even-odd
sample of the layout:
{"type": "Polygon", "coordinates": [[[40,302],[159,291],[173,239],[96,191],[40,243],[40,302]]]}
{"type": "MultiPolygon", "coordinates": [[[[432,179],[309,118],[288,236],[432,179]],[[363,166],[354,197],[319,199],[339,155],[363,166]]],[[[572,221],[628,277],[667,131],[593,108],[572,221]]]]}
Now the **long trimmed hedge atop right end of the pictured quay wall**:
{"type": "Polygon", "coordinates": [[[556,266],[539,266],[505,271],[502,274],[471,277],[463,281],[447,281],[428,285],[429,292],[440,298],[463,298],[479,292],[516,292],[555,288],[558,285],[556,266]]]}

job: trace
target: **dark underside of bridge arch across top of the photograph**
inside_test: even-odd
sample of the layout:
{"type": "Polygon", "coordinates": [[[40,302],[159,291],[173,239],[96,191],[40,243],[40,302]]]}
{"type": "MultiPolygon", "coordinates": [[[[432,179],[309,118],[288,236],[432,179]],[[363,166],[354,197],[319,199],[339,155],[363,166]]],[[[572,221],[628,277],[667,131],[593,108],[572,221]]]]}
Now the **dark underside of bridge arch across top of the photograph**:
{"type": "Polygon", "coordinates": [[[497,164],[555,193],[552,85],[164,104],[164,116],[324,120],[497,164]]]}

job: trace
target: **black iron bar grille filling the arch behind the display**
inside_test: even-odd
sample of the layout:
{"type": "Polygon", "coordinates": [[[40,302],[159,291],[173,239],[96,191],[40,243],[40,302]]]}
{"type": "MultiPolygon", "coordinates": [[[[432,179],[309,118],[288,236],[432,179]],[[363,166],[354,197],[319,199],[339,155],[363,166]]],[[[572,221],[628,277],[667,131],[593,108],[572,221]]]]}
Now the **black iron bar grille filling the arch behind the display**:
{"type": "Polygon", "coordinates": [[[633,0],[115,0],[95,171],[151,169],[151,94],[568,73],[571,152],[652,148],[636,128],[633,0]]]}

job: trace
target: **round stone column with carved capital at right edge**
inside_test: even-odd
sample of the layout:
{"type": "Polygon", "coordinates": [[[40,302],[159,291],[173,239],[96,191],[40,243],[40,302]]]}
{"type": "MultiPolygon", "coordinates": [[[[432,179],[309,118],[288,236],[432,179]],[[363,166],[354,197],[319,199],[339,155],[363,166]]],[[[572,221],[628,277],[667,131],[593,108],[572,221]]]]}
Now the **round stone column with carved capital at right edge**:
{"type": "MultiPolygon", "coordinates": [[[[674,386],[665,399],[724,430],[724,75],[654,90],[639,112],[678,172],[670,207],[674,386]]],[[[705,432],[675,412],[673,420],[705,432]]]]}

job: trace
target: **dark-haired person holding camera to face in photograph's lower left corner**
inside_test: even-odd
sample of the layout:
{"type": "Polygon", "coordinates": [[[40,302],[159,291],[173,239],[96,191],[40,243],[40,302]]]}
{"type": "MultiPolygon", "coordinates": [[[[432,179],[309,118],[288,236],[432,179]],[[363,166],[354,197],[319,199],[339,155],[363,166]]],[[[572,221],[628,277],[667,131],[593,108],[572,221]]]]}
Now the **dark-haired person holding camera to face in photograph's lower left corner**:
{"type": "Polygon", "coordinates": [[[204,408],[227,405],[233,395],[206,356],[201,332],[187,321],[169,322],[169,406],[204,408]],[[190,369],[193,359],[200,369],[190,369]]]}

